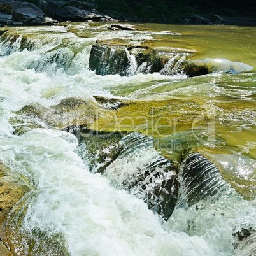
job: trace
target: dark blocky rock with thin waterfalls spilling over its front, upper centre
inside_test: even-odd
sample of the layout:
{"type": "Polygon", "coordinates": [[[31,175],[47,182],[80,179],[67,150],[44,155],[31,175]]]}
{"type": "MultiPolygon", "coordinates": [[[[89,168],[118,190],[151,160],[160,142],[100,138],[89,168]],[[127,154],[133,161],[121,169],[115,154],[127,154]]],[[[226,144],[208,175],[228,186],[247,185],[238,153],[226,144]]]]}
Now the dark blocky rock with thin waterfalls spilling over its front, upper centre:
{"type": "Polygon", "coordinates": [[[175,66],[178,59],[185,54],[191,55],[193,52],[174,48],[136,46],[122,39],[119,39],[119,43],[118,39],[98,40],[90,52],[89,68],[95,70],[98,75],[154,73],[160,72],[174,55],[177,56],[174,58],[173,66],[175,66]],[[122,41],[123,43],[120,43],[122,41]]]}

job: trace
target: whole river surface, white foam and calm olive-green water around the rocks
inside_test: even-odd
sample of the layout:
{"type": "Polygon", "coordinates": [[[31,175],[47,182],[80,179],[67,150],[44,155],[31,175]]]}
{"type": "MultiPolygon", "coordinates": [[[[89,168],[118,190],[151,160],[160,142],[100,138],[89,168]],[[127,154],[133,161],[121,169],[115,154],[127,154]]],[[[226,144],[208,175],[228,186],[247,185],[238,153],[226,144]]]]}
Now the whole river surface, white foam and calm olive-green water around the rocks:
{"type": "MultiPolygon", "coordinates": [[[[8,219],[10,243],[17,245],[15,253],[233,255],[238,243],[234,234],[256,230],[256,29],[136,24],[141,30],[110,31],[108,26],[14,27],[1,36],[0,159],[35,189],[22,199],[24,205],[15,206],[16,212],[13,210],[8,219]],[[133,39],[137,45],[196,51],[181,58],[210,59],[215,68],[194,78],[167,72],[167,67],[160,73],[146,74],[145,67],[137,67],[130,56],[126,76],[96,75],[89,69],[89,54],[103,36],[133,39]],[[94,101],[93,96],[146,102],[183,100],[175,110],[181,118],[193,115],[194,121],[191,127],[176,131],[173,120],[173,132],[150,134],[156,138],[157,151],[133,153],[131,161],[131,150],[126,159],[123,153],[114,167],[108,166],[107,175],[91,170],[73,134],[43,122],[41,129],[13,134],[9,120],[27,104],[50,107],[67,97],[94,101]],[[180,176],[178,203],[167,221],[149,210],[136,193],[112,182],[116,173],[139,168],[160,153],[183,170],[186,167],[181,159],[188,148],[204,148],[204,155],[222,167],[222,176],[229,183],[210,199],[190,205],[180,176]],[[53,250],[53,238],[60,241],[62,249],[53,250]]],[[[169,61],[167,65],[173,64],[169,61]]],[[[167,110],[157,111],[161,117],[167,110]]]]}

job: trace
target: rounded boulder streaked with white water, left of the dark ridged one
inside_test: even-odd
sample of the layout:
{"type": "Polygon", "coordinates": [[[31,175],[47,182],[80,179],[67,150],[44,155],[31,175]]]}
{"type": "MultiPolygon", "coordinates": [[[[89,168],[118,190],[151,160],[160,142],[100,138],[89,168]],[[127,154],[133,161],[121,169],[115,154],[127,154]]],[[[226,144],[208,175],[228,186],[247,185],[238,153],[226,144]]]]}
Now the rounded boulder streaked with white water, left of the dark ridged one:
{"type": "Polygon", "coordinates": [[[104,171],[111,183],[143,199],[167,220],[178,194],[176,167],[153,148],[153,138],[128,134],[120,141],[120,153],[104,171]]]}

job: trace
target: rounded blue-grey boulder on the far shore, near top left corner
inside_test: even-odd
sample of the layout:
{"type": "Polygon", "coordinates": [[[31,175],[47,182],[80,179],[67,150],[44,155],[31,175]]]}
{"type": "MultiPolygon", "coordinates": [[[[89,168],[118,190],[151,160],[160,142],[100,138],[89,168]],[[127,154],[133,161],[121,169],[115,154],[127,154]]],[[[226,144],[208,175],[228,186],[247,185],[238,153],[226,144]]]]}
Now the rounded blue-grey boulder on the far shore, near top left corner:
{"type": "Polygon", "coordinates": [[[13,20],[27,24],[36,18],[43,18],[45,13],[35,4],[24,2],[13,9],[13,20]]]}

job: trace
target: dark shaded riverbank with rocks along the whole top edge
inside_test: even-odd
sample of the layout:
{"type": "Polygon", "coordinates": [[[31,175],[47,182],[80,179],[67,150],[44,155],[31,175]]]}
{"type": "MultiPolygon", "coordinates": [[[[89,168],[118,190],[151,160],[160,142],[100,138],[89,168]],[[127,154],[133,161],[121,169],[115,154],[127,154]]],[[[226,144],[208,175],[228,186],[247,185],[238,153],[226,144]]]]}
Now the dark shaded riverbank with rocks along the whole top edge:
{"type": "Polygon", "coordinates": [[[255,3],[207,4],[193,1],[0,1],[2,27],[54,25],[58,22],[150,22],[255,26],[255,3]]]}

